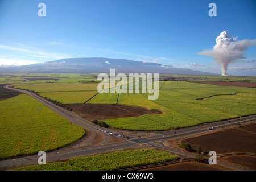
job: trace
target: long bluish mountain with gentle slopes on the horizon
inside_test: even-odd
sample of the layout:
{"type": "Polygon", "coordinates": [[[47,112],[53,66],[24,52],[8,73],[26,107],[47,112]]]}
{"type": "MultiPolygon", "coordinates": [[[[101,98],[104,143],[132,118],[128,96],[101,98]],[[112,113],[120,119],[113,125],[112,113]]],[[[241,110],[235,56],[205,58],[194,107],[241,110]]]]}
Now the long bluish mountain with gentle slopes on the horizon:
{"type": "Polygon", "coordinates": [[[184,75],[215,75],[209,72],[192,69],[174,68],[158,63],[143,63],[126,59],[104,57],[68,58],[45,63],[0,68],[0,73],[160,73],[184,75]]]}

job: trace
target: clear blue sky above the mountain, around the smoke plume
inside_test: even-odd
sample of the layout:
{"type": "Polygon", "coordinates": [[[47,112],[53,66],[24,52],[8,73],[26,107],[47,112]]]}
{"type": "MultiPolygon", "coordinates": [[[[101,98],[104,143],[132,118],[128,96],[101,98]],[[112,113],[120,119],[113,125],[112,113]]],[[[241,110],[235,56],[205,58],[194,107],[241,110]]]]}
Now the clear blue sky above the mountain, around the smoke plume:
{"type": "MultiPolygon", "coordinates": [[[[255,1],[0,0],[0,65],[68,57],[109,57],[221,74],[212,49],[224,30],[256,39],[255,1]],[[39,3],[46,17],[39,17],[39,3]],[[210,17],[209,3],[217,16],[210,17]]],[[[256,46],[228,74],[256,76],[256,46]]]]}

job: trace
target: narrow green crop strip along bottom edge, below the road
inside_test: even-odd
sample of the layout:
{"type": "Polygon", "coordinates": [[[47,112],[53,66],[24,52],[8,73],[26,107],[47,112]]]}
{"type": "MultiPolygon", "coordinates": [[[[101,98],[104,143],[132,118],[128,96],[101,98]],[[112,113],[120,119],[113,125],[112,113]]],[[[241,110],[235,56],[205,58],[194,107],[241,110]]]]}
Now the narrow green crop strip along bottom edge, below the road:
{"type": "Polygon", "coordinates": [[[119,169],[139,167],[148,164],[168,162],[180,159],[168,152],[152,149],[127,150],[85,156],[70,159],[67,162],[56,162],[16,169],[17,171],[117,171],[119,169]]]}

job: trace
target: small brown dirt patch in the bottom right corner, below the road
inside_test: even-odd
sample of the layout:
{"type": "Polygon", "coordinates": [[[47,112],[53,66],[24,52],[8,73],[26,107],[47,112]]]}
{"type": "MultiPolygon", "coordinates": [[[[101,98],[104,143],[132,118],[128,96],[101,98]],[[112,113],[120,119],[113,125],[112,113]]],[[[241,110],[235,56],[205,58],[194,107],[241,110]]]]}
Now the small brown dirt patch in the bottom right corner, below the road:
{"type": "Polygon", "coordinates": [[[254,170],[256,169],[256,156],[233,155],[233,156],[224,156],[219,160],[233,163],[233,164],[238,164],[240,166],[245,166],[254,170]]]}

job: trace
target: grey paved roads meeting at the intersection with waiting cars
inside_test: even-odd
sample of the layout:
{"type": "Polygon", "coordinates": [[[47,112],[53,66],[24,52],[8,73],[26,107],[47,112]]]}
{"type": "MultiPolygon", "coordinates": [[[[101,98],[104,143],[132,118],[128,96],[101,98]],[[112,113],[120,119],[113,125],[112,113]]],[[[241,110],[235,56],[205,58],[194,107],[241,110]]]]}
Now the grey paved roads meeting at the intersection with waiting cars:
{"type": "MultiPolygon", "coordinates": [[[[26,80],[25,80],[26,81],[26,80]]],[[[63,107],[59,107],[55,104],[52,104],[52,102],[49,102],[47,100],[44,100],[44,98],[39,97],[35,93],[28,92],[26,90],[17,90],[9,87],[10,85],[5,86],[6,89],[12,89],[16,90],[18,92],[22,92],[24,94],[28,94],[31,97],[34,97],[36,100],[42,102],[44,105],[55,111],[57,114],[61,115],[62,117],[68,119],[68,121],[75,123],[76,125],[79,125],[81,127],[84,127],[86,130],[92,130],[95,132],[100,132],[105,135],[105,140],[101,144],[98,144],[97,146],[93,147],[85,147],[85,148],[77,148],[73,150],[66,150],[66,151],[59,151],[59,152],[49,152],[47,153],[47,162],[52,161],[58,161],[63,159],[70,159],[76,156],[81,155],[89,155],[89,154],[97,154],[100,152],[105,151],[111,151],[111,150],[117,150],[122,148],[129,148],[129,147],[138,147],[138,146],[146,146],[146,147],[154,147],[154,148],[160,148],[167,151],[170,151],[175,154],[182,154],[187,155],[190,157],[195,157],[195,155],[184,152],[181,150],[177,150],[175,148],[170,148],[163,145],[164,140],[169,139],[179,139],[181,137],[188,137],[190,135],[200,135],[203,133],[210,133],[212,130],[208,130],[209,128],[214,128],[214,130],[220,130],[223,127],[228,127],[232,125],[236,125],[237,122],[241,123],[247,123],[247,122],[255,122],[256,121],[256,115],[251,115],[248,117],[242,117],[242,118],[236,118],[236,119],[230,119],[229,121],[220,121],[220,122],[214,122],[214,123],[207,123],[200,126],[193,126],[188,127],[186,129],[179,129],[174,131],[162,131],[162,132],[133,132],[133,131],[116,131],[111,129],[105,129],[100,126],[94,125],[92,122],[90,122],[88,119],[81,118],[75,113],[72,113],[70,111],[67,111],[63,109],[63,107]],[[101,131],[102,130],[102,131],[101,131]],[[108,131],[108,133],[105,133],[104,131],[108,131]],[[123,142],[117,142],[112,144],[106,144],[106,142],[109,139],[110,133],[113,134],[120,134],[125,135],[126,137],[129,137],[129,139],[123,141],[123,142]],[[135,136],[135,137],[134,137],[135,136]]],[[[31,156],[23,156],[20,158],[14,158],[9,160],[1,160],[0,161],[0,168],[3,167],[10,167],[10,166],[20,166],[24,164],[37,164],[38,163],[38,155],[31,155],[31,156]]],[[[224,162],[218,162],[218,164],[221,164],[223,166],[236,169],[236,170],[250,170],[245,167],[235,166],[233,164],[224,163],[224,162]]]]}

